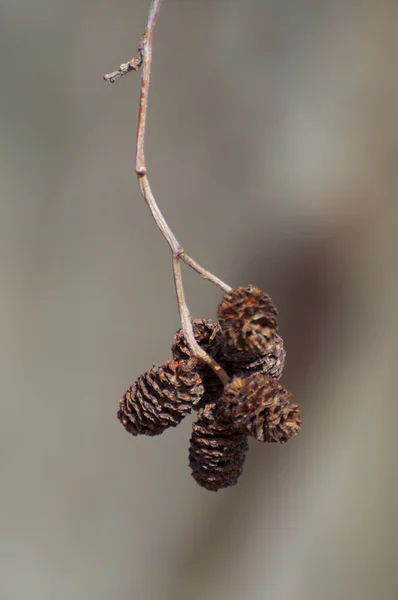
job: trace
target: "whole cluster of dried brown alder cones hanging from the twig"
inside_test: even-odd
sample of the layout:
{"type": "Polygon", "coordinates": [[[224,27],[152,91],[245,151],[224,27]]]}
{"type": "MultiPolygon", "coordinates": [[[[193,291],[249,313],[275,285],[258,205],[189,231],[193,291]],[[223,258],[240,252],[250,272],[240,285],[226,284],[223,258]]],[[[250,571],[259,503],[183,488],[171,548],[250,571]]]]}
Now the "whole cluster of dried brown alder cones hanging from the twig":
{"type": "Polygon", "coordinates": [[[278,312],[271,298],[249,285],[226,293],[218,323],[194,319],[198,344],[228,373],[193,358],[177,331],[172,358],[140,375],[120,400],[118,419],[133,435],[159,435],[192,409],[189,464],[196,482],[212,491],[235,485],[248,450],[248,435],[287,442],[300,430],[299,407],[278,383],[285,362],[278,312]]]}

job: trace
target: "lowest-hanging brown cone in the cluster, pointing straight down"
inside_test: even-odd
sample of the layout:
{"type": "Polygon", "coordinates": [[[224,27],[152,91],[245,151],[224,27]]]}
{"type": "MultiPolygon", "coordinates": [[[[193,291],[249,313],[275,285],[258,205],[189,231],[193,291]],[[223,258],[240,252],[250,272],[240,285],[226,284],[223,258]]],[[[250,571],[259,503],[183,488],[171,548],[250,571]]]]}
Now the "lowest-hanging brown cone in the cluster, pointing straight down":
{"type": "Polygon", "coordinates": [[[219,421],[215,408],[209,403],[199,410],[189,448],[193,478],[213,492],[238,483],[248,450],[247,435],[219,421]]]}

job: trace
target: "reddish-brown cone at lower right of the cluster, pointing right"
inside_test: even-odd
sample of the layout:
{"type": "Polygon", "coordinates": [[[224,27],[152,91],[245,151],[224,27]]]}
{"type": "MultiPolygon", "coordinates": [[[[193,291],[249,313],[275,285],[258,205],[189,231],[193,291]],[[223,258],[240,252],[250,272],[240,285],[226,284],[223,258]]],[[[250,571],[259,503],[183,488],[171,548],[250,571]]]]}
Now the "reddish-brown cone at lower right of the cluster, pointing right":
{"type": "Polygon", "coordinates": [[[225,386],[220,410],[240,431],[261,442],[287,442],[300,431],[300,410],[292,394],[272,377],[253,373],[225,386]]]}

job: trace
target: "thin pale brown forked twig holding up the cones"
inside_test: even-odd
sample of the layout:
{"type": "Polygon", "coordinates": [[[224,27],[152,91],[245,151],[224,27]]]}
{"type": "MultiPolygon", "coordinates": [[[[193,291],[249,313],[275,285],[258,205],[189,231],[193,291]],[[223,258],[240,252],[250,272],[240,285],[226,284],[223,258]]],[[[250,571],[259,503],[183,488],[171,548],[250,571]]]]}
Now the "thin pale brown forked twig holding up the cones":
{"type": "Polygon", "coordinates": [[[207,279],[219,286],[225,292],[229,292],[232,288],[218,279],[212,273],[206,271],[196,261],[185,254],[183,247],[178,242],[177,238],[168,226],[165,218],[163,217],[155,197],[152,193],[151,186],[147,177],[147,167],[145,162],[145,126],[148,112],[148,93],[149,83],[151,75],[151,61],[152,61],[152,46],[153,46],[153,34],[155,30],[156,21],[159,15],[160,7],[163,0],[152,0],[148,14],[148,21],[145,28],[144,35],[138,46],[138,52],[136,56],[131,59],[128,63],[120,65],[117,71],[104,75],[106,81],[111,83],[123,77],[130,71],[137,71],[142,66],[141,76],[141,94],[140,94],[140,106],[138,111],[138,125],[137,125],[137,145],[136,145],[136,173],[138,183],[142,196],[147,203],[152,217],[160,229],[161,233],[165,237],[167,243],[170,246],[173,261],[173,275],[174,285],[177,294],[178,310],[181,318],[181,326],[184,332],[185,339],[189,345],[192,355],[200,361],[208,364],[213,371],[218,375],[221,381],[226,384],[229,381],[229,377],[224,369],[211,357],[203,348],[199,346],[195,339],[195,335],[192,328],[192,318],[189,312],[184,288],[182,284],[181,274],[181,261],[184,261],[192,269],[194,269],[203,279],[207,279]]]}

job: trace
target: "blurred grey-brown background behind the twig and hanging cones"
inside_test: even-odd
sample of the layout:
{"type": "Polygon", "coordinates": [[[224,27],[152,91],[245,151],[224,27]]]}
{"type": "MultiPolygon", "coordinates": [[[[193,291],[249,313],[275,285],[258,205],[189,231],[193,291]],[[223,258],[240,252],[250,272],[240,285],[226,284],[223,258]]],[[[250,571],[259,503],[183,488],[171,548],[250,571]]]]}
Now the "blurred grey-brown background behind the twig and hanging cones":
{"type": "Polygon", "coordinates": [[[272,295],[303,416],[218,494],[190,477],[192,419],[156,439],[116,419],[179,326],[133,173],[139,76],[102,81],[148,5],[0,7],[0,598],[393,600],[396,0],[164,2],[155,195],[203,266],[272,295]]]}

